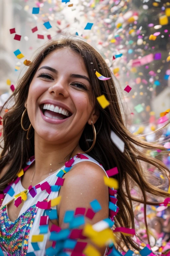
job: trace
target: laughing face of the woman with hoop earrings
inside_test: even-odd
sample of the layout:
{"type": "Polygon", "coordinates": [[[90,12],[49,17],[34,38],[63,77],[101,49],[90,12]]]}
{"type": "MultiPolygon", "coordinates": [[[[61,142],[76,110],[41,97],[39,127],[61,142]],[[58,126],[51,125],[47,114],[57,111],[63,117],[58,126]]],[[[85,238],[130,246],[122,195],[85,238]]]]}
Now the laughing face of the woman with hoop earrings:
{"type": "Polygon", "coordinates": [[[85,124],[97,120],[83,58],[69,48],[51,52],[34,75],[25,106],[42,139],[55,144],[80,138],[85,124]]]}

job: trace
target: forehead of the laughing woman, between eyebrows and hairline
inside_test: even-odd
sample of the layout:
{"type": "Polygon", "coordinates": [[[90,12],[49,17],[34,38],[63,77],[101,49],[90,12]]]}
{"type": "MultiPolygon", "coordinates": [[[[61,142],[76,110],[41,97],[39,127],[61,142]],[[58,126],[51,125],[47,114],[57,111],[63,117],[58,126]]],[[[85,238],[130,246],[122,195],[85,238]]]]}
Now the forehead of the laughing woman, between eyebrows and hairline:
{"type": "Polygon", "coordinates": [[[75,71],[79,71],[87,75],[83,57],[68,47],[52,51],[45,57],[39,68],[42,66],[53,67],[58,70],[58,72],[70,71],[71,73],[75,73],[75,71]]]}

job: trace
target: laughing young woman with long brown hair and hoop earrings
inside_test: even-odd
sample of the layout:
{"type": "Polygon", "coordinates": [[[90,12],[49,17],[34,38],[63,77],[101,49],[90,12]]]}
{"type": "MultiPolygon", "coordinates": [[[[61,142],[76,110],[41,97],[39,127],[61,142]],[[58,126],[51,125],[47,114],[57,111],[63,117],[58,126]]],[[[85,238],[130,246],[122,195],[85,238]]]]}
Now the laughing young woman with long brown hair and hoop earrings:
{"type": "MultiPolygon", "coordinates": [[[[37,51],[6,102],[0,158],[4,255],[70,255],[71,251],[72,255],[104,255],[112,240],[102,243],[103,235],[100,243],[95,242],[94,235],[82,232],[85,223],[108,221],[109,216],[113,220],[119,207],[115,226],[134,228],[132,201],[144,203],[146,221],[146,204],[152,204],[146,193],[168,197],[147,181],[140,164],[152,164],[166,176],[169,171],[163,163],[141,150],[163,147],[127,130],[119,85],[114,77],[99,80],[96,71],[112,77],[89,44],[78,37],[50,40],[37,51]],[[105,109],[96,100],[103,94],[110,102],[105,109]],[[111,131],[125,143],[123,153],[111,140],[111,131]],[[105,170],[114,167],[119,171],[117,198],[113,188],[109,197],[104,183],[105,170]],[[132,186],[138,187],[141,196],[130,195],[132,186]],[[73,246],[74,239],[78,245],[73,246]]],[[[117,235],[117,247],[124,245],[138,248],[132,237],[117,235]]]]}

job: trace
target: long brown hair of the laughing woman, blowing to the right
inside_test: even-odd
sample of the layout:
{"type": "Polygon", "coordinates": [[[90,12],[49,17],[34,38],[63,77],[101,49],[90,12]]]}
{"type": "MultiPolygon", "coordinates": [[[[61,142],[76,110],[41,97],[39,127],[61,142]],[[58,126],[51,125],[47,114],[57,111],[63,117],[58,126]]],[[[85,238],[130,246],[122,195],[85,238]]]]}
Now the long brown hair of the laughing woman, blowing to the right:
{"type": "MultiPolygon", "coordinates": [[[[134,228],[132,201],[136,201],[144,204],[145,224],[147,228],[146,205],[156,204],[147,201],[147,193],[161,197],[168,197],[169,194],[147,181],[140,162],[144,161],[154,165],[165,176],[167,176],[166,173],[169,170],[161,161],[145,155],[141,149],[155,150],[158,148],[163,149],[163,147],[145,142],[128,131],[123,117],[121,95],[118,93],[120,87],[118,82],[113,77],[102,56],[92,46],[76,36],[61,36],[59,39],[48,41],[38,49],[32,60],[32,65],[18,81],[14,93],[5,103],[5,106],[9,104],[13,104],[13,106],[9,108],[9,111],[3,117],[4,146],[0,157],[0,170],[7,164],[9,164],[9,168],[0,180],[0,191],[2,192],[6,185],[16,177],[26,160],[34,155],[34,129],[32,128],[29,134],[29,137],[32,136],[32,138],[27,140],[27,132],[21,128],[21,116],[25,110],[24,103],[28,97],[30,83],[42,60],[52,51],[63,47],[69,47],[84,58],[95,99],[104,94],[110,102],[110,105],[106,109],[103,109],[96,100],[96,105],[100,110],[100,117],[95,123],[97,132],[96,144],[89,152],[89,155],[100,162],[106,170],[115,166],[119,170],[116,178],[119,181],[117,205],[120,210],[115,217],[115,225],[117,227],[134,228]],[[95,75],[96,71],[105,77],[112,77],[112,79],[101,81],[95,75]],[[110,138],[111,130],[124,141],[124,153],[120,152],[112,142],[110,138]],[[141,198],[133,198],[130,195],[132,183],[141,191],[141,198]]],[[[30,125],[27,114],[24,118],[23,125],[25,128],[30,125]]],[[[90,140],[93,140],[93,133],[91,126],[87,124],[79,141],[82,150],[86,151],[90,148],[90,140]]],[[[120,235],[120,241],[121,243],[118,242],[118,245],[124,241],[128,248],[129,246],[138,248],[129,236],[120,235]]]]}

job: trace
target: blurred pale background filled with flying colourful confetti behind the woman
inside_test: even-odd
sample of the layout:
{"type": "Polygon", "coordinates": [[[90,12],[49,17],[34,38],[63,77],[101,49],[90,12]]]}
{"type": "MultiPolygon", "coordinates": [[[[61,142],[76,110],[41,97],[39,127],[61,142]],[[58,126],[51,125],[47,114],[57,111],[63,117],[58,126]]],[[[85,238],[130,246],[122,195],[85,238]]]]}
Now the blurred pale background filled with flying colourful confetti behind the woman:
{"type": "MultiPolygon", "coordinates": [[[[170,116],[170,1],[0,0],[0,106],[12,94],[11,85],[15,87],[28,69],[23,62],[47,40],[65,32],[96,48],[119,80],[129,130],[147,141],[168,143],[169,125],[161,133],[155,131],[170,116]],[[127,85],[130,91],[124,90],[127,85]]],[[[146,153],[170,167],[169,145],[166,154],[146,153]]],[[[168,190],[158,170],[146,169],[168,190]]],[[[139,240],[146,242],[143,206],[134,205],[134,211],[139,240]]],[[[170,249],[169,205],[147,211],[152,247],[170,249]]]]}

